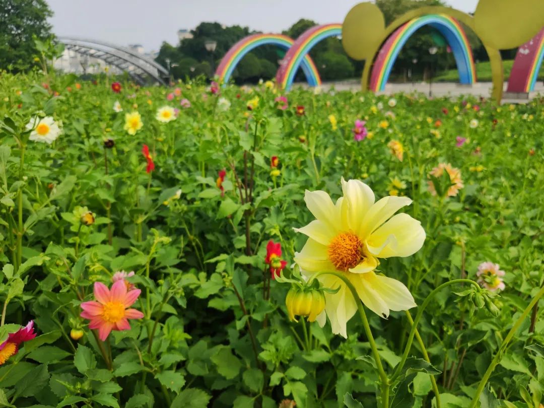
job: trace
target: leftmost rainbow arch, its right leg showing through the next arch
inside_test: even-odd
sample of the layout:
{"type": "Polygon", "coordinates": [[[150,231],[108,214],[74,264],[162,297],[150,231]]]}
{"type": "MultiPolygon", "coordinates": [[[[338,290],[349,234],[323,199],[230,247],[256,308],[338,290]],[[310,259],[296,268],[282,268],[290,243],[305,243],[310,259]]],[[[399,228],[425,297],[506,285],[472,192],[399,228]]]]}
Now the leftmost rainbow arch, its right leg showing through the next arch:
{"type": "MultiPolygon", "coordinates": [[[[242,40],[234,44],[230,50],[221,59],[217,70],[215,70],[215,76],[219,78],[219,82],[226,84],[232,76],[234,69],[244,58],[244,56],[254,50],[254,48],[261,45],[275,45],[282,50],[289,50],[294,44],[294,40],[287,35],[282,34],[252,34],[248,35],[242,40]]],[[[302,71],[306,76],[308,84],[311,86],[317,86],[321,84],[321,78],[317,71],[316,64],[310,58],[310,55],[305,55],[301,60],[302,71]]]]}

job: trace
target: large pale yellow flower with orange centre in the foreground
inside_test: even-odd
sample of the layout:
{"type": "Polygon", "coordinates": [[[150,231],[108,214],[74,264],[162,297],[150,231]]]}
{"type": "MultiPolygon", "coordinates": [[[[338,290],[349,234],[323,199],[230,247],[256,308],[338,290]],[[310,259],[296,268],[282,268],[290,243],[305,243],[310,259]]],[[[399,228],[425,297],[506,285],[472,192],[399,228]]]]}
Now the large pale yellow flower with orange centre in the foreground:
{"type": "MultiPolygon", "coordinates": [[[[375,202],[372,189],[358,180],[342,178],[342,190],[336,204],[325,191],[306,190],[304,200],[316,220],[295,228],[308,236],[295,262],[308,277],[323,271],[345,274],[363,304],[381,317],[416,306],[403,283],[374,272],[379,258],[406,257],[421,249],[425,240],[421,222],[404,213],[393,216],[412,200],[388,196],[375,202]]],[[[325,294],[325,312],[332,332],[347,337],[346,324],[357,310],[355,299],[337,276],[317,279],[324,287],[340,287],[336,294],[325,294]]],[[[317,320],[323,326],[325,314],[317,320]]]]}

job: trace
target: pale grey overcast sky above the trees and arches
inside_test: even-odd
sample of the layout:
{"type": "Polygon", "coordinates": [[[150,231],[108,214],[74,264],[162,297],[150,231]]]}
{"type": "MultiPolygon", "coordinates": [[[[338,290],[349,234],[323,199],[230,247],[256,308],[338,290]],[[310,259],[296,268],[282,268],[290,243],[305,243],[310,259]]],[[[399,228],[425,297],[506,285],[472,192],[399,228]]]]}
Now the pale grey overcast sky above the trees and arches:
{"type": "MultiPolygon", "coordinates": [[[[202,21],[238,24],[279,33],[299,18],[340,23],[357,0],[46,0],[54,16],[53,32],[158,50],[163,41],[177,44],[177,30],[202,21]]],[[[472,12],[478,0],[446,0],[472,12]]]]}

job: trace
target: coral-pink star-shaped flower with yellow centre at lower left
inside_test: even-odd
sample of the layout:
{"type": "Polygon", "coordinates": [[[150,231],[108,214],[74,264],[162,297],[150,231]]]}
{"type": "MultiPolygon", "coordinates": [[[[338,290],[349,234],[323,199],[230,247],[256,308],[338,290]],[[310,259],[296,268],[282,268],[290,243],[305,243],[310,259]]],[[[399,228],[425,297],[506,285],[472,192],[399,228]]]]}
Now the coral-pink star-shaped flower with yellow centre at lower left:
{"type": "Polygon", "coordinates": [[[89,329],[98,329],[98,337],[106,341],[112,330],[130,330],[128,319],[141,319],[144,313],[127,308],[140,296],[140,289],[127,290],[125,281],[117,281],[108,289],[101,282],[95,282],[94,295],[97,301],[81,304],[80,316],[89,319],[89,329]]]}

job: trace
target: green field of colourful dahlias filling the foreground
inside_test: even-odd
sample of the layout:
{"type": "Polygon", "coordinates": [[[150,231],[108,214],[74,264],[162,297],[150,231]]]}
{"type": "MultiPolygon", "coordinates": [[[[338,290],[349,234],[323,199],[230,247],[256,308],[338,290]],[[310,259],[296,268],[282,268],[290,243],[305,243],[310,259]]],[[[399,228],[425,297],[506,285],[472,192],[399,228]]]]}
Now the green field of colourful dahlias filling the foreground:
{"type": "Polygon", "coordinates": [[[544,403],[544,104],[0,78],[0,405],[544,403]]]}

